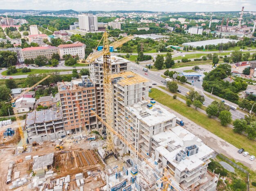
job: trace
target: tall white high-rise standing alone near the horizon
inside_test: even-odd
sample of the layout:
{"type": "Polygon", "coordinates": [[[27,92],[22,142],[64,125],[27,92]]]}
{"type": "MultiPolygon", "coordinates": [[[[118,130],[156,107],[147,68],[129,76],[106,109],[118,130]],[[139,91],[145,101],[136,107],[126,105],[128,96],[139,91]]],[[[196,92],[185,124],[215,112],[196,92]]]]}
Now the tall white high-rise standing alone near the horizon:
{"type": "Polygon", "coordinates": [[[84,31],[98,31],[98,18],[96,15],[78,15],[79,29],[84,31]]]}

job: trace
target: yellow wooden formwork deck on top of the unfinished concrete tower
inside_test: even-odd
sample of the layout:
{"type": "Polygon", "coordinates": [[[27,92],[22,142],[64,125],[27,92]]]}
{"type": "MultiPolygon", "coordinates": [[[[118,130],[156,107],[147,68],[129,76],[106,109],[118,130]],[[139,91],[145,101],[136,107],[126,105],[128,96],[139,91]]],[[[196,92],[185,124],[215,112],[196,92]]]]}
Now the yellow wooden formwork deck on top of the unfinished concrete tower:
{"type": "Polygon", "coordinates": [[[117,80],[117,83],[120,84],[121,86],[130,86],[132,84],[136,83],[143,83],[147,82],[148,79],[141,77],[141,75],[135,74],[133,72],[122,72],[120,74],[113,74],[111,75],[112,81],[117,80]]]}

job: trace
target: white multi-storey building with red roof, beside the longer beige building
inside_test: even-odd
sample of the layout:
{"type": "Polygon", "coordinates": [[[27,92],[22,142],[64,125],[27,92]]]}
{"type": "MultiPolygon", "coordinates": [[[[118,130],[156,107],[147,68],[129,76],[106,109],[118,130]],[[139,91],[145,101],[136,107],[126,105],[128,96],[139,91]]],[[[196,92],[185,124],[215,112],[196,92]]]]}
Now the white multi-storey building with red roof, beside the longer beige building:
{"type": "Polygon", "coordinates": [[[68,54],[72,55],[73,57],[78,55],[79,58],[84,58],[85,47],[86,45],[81,42],[75,42],[74,44],[61,44],[58,46],[61,59],[63,58],[63,55],[68,54]]]}

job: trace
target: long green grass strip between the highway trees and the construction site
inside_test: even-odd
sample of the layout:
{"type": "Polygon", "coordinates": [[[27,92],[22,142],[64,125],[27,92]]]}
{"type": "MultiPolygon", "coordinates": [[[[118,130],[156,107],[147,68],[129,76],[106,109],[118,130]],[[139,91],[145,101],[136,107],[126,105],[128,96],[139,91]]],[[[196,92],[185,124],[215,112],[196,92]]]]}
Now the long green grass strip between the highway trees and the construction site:
{"type": "Polygon", "coordinates": [[[244,135],[234,133],[231,128],[223,127],[219,121],[211,119],[207,115],[188,107],[185,103],[182,103],[177,99],[173,99],[171,96],[165,94],[160,90],[151,88],[151,91],[152,92],[149,93],[149,96],[158,101],[159,103],[162,103],[163,105],[166,105],[172,110],[175,110],[176,112],[197,123],[198,125],[204,127],[205,129],[209,130],[210,132],[224,139],[225,141],[231,143],[237,148],[244,148],[250,154],[255,156],[256,141],[249,140],[244,135]]]}

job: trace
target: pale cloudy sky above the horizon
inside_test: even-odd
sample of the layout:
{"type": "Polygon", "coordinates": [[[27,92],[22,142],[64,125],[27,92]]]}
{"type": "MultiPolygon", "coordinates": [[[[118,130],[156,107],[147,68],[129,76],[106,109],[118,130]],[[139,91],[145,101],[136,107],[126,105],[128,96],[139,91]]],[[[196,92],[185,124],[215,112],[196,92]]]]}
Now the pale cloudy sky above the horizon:
{"type": "Polygon", "coordinates": [[[0,9],[75,11],[256,11],[256,0],[0,0],[0,9]]]}

